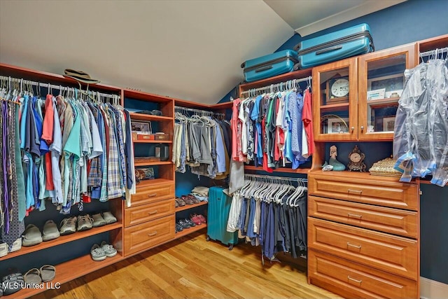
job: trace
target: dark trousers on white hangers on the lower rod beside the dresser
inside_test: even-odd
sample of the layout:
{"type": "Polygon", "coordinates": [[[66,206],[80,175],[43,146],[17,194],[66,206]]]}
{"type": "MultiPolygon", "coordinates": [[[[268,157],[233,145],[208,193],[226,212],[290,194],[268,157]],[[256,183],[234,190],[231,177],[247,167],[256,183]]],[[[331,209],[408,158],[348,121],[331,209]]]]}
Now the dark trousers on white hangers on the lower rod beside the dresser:
{"type": "Polygon", "coordinates": [[[307,188],[293,187],[281,178],[271,179],[270,183],[256,178],[246,175],[244,187],[233,193],[227,231],[238,231],[240,238],[260,246],[262,254],[270,260],[281,251],[293,258],[304,255],[307,188]]]}

